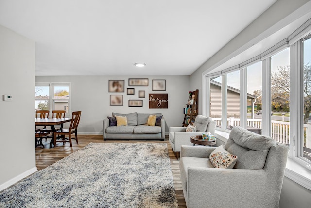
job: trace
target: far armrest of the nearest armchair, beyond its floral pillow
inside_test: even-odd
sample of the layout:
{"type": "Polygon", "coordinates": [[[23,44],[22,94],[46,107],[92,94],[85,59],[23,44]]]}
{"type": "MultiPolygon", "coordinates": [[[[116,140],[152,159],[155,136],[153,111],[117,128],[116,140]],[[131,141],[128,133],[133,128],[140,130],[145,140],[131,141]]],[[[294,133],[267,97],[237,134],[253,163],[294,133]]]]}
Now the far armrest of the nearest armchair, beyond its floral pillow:
{"type": "Polygon", "coordinates": [[[180,158],[182,157],[203,157],[209,158],[210,153],[215,150],[216,147],[204,147],[204,146],[188,146],[182,145],[180,158]]]}

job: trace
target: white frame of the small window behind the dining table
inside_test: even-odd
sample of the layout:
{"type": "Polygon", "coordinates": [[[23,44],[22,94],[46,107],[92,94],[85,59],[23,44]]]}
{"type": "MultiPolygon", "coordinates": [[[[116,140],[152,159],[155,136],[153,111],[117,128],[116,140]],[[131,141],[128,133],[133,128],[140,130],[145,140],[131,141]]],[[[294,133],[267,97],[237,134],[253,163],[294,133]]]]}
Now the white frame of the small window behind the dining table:
{"type": "MultiPolygon", "coordinates": [[[[71,83],[70,82],[35,82],[35,87],[37,86],[49,86],[49,110],[52,112],[55,107],[54,104],[54,87],[55,86],[68,86],[69,89],[69,99],[68,99],[68,113],[65,113],[65,117],[70,117],[71,115],[71,83]]],[[[35,99],[36,100],[36,99],[35,99]]],[[[50,113],[52,117],[52,113],[50,113]]]]}

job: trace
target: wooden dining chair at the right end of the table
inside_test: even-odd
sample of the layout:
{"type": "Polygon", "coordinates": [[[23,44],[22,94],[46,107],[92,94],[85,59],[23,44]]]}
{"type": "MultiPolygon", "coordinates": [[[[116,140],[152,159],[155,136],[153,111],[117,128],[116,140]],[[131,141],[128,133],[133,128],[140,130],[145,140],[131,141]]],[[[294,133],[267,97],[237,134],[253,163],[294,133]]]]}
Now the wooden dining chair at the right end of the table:
{"type": "Polygon", "coordinates": [[[61,129],[56,131],[56,138],[61,138],[62,140],[56,141],[57,139],[54,140],[54,147],[56,147],[56,142],[69,142],[70,147],[72,147],[72,142],[71,139],[75,139],[77,144],[78,144],[78,136],[77,136],[77,129],[78,125],[80,122],[80,117],[81,117],[81,111],[75,111],[72,112],[72,120],[69,126],[69,129],[61,129]],[[71,138],[71,134],[75,134],[75,138],[71,138]],[[65,136],[68,136],[67,138],[65,136]],[[68,141],[69,140],[69,141],[68,141]]]}

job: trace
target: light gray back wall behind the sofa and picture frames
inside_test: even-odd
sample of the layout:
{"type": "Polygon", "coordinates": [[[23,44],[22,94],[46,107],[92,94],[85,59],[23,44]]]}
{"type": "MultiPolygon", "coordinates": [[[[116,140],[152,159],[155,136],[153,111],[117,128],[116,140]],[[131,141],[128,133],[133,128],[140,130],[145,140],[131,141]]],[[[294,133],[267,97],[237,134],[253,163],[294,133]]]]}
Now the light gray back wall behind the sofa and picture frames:
{"type": "Polygon", "coordinates": [[[82,111],[78,132],[102,134],[103,119],[116,113],[162,113],[169,126],[181,126],[183,108],[188,100],[189,76],[36,76],[35,82],[70,82],[71,111],[82,111]],[[148,87],[128,86],[129,78],[149,78],[148,87]],[[124,80],[124,93],[109,93],[109,80],[124,80]],[[152,79],[165,79],[166,91],[152,91],[152,79]],[[134,95],[126,95],[126,88],[134,88],[134,95]],[[138,91],[145,90],[146,98],[138,98],[138,91]],[[149,109],[149,93],[167,93],[167,109],[149,109]],[[123,106],[110,106],[110,95],[123,95],[123,106]],[[128,107],[129,99],[142,99],[143,107],[128,107]]]}

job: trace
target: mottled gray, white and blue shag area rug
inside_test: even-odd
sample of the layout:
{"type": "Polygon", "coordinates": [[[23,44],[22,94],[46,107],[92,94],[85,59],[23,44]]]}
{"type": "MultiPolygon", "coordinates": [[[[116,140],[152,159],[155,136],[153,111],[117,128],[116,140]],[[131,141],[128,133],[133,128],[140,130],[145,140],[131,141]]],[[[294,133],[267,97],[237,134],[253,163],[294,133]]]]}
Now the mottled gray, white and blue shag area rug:
{"type": "Polygon", "coordinates": [[[167,145],[90,143],[2,191],[0,207],[178,207],[167,145]]]}

